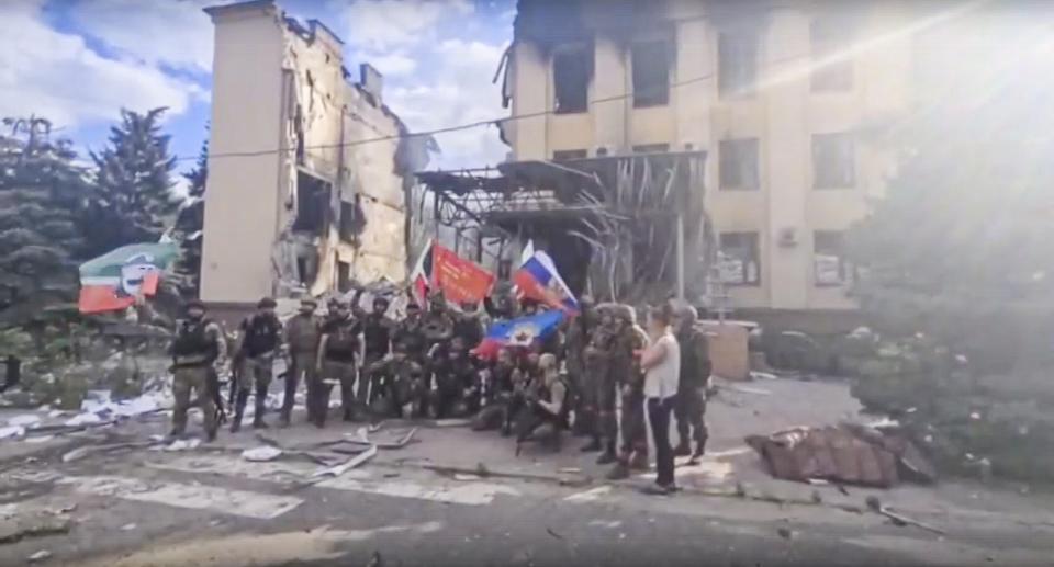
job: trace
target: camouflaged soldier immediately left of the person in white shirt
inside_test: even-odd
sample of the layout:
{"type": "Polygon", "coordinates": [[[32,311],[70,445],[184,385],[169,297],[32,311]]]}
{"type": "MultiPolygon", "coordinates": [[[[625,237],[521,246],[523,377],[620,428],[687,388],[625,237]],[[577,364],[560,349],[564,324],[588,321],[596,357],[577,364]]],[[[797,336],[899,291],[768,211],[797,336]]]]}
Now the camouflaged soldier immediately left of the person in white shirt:
{"type": "Polygon", "coordinates": [[[623,446],[609,479],[629,476],[630,469],[648,470],[648,426],[644,417],[644,373],[639,353],[648,347],[648,333],[637,324],[637,311],[619,305],[618,340],[613,359],[621,402],[623,446]]]}

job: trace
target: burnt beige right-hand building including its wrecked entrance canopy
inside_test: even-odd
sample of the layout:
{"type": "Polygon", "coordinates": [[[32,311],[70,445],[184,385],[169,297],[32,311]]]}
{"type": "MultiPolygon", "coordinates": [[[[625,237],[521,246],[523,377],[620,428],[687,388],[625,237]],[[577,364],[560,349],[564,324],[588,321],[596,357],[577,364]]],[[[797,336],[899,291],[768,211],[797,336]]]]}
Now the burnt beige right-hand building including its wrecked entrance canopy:
{"type": "Polygon", "coordinates": [[[458,194],[483,188],[502,203],[522,202],[509,195],[528,185],[557,195],[560,206],[531,205],[542,209],[531,217],[522,203],[478,216],[548,240],[572,272],[620,243],[599,237],[591,206],[606,204],[619,234],[643,224],[618,252],[633,264],[626,292],[675,263],[663,235],[680,219],[689,293],[724,295],[740,311],[848,311],[854,269],[842,235],[883,193],[896,158],[884,128],[911,100],[909,4],[520,0],[502,180],[425,180],[458,194]],[[704,158],[695,177],[659,174],[704,158]],[[588,188],[597,182],[603,191],[588,188]],[[628,195],[680,189],[689,196],[624,206],[637,199],[628,195]]]}

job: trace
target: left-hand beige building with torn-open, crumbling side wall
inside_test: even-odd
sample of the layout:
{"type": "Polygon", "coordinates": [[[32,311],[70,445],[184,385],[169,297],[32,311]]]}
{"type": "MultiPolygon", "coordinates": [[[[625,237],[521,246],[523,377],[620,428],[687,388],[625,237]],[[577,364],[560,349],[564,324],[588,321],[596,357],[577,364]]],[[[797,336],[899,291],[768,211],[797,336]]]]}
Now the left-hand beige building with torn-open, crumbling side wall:
{"type": "Polygon", "coordinates": [[[205,12],[215,53],[201,298],[237,310],[401,282],[405,188],[424,163],[382,76],[362,64],[352,81],[336,34],[270,0],[205,12]]]}

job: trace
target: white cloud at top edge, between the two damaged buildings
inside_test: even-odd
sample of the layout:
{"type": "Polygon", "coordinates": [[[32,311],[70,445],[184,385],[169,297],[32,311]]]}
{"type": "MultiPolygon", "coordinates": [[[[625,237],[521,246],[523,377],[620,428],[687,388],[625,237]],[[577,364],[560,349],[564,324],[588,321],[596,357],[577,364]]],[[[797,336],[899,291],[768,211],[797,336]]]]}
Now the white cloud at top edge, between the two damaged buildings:
{"type": "Polygon", "coordinates": [[[468,0],[335,0],[330,5],[344,19],[343,37],[372,50],[419,44],[435,36],[440,19],[473,12],[468,0]]]}

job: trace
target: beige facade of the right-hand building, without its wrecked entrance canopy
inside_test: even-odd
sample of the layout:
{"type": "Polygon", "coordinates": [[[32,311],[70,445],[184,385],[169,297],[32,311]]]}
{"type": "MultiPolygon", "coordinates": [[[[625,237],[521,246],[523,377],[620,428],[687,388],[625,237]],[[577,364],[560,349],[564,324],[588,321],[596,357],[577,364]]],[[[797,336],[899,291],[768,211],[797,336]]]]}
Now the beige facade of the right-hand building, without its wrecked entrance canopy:
{"type": "Polygon", "coordinates": [[[556,5],[520,3],[511,159],[705,150],[715,295],[740,309],[852,309],[841,239],[895,168],[886,133],[912,98],[906,4],[556,5]]]}

